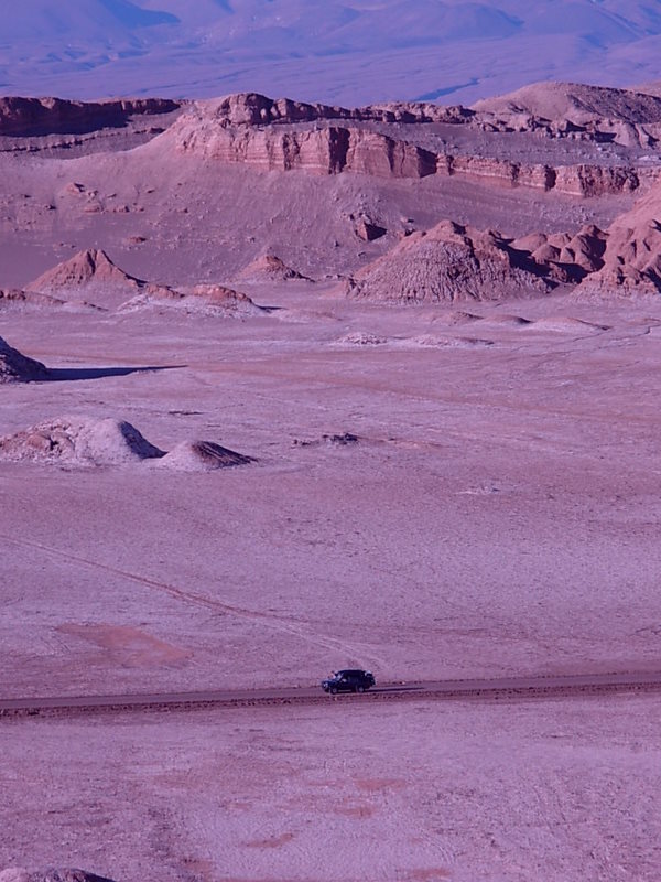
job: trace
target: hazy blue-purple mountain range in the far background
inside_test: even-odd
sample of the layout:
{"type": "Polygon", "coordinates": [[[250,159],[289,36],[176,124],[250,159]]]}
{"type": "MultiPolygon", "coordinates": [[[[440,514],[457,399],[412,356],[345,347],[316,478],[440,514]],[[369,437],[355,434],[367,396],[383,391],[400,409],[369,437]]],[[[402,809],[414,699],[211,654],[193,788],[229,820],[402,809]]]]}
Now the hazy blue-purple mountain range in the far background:
{"type": "Polygon", "coordinates": [[[661,74],[661,0],[23,0],[0,93],[472,103],[541,79],[661,74]]]}

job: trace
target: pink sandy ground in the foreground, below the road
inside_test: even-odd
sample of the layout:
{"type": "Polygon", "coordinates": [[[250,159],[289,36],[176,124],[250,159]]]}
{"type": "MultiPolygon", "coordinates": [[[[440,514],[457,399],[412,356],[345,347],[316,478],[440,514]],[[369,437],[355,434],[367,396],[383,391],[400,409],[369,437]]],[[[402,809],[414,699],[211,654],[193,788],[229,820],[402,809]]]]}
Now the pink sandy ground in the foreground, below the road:
{"type": "Polygon", "coordinates": [[[658,697],[2,727],[0,860],[112,879],[654,882],[658,697]]]}

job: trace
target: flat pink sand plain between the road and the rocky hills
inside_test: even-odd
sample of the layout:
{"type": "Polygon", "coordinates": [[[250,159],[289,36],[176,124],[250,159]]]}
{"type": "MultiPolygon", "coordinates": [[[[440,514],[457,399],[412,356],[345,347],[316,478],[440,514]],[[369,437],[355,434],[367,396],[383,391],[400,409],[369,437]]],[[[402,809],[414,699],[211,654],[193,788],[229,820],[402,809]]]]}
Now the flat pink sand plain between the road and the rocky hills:
{"type": "Polygon", "coordinates": [[[4,432],[112,416],[258,463],[3,463],[3,693],[657,669],[658,304],[481,305],[466,330],[285,288],[246,322],[4,319],[51,366],[185,365],[6,387],[4,432]]]}

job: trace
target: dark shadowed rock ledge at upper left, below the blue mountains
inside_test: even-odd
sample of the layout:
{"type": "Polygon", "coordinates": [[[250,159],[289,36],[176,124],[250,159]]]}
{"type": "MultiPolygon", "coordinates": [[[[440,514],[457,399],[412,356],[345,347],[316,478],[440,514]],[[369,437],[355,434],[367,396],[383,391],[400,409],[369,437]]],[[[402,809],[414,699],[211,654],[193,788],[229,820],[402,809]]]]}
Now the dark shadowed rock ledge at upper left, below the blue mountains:
{"type": "Polygon", "coordinates": [[[131,117],[161,116],[182,107],[161,98],[69,101],[62,98],[0,98],[0,136],[83,135],[121,128],[131,117]]]}

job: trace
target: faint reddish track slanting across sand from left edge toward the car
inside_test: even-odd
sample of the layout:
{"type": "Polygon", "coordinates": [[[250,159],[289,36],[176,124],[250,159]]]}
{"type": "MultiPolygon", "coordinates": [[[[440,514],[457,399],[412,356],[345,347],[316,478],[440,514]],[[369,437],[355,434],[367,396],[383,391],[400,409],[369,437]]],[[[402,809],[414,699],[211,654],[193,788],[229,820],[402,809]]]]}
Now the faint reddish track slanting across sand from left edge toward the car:
{"type": "Polygon", "coordinates": [[[79,557],[78,555],[72,555],[68,551],[63,551],[59,548],[46,546],[41,542],[30,541],[29,539],[17,539],[15,537],[0,534],[0,541],[19,546],[20,548],[30,548],[33,551],[34,550],[41,551],[43,555],[56,557],[62,560],[68,560],[80,567],[86,567],[90,570],[100,570],[102,572],[109,572],[112,573],[113,576],[118,576],[130,582],[134,582],[136,584],[139,584],[143,588],[149,588],[151,590],[169,594],[171,598],[182,601],[183,603],[202,606],[207,610],[213,610],[214,612],[225,613],[226,615],[231,615],[235,619],[242,619],[248,622],[256,622],[273,631],[279,631],[285,634],[292,634],[293,636],[299,637],[300,639],[305,641],[306,643],[312,643],[315,646],[323,646],[324,648],[330,649],[333,652],[346,653],[353,658],[364,659],[365,663],[369,663],[370,665],[376,665],[377,667],[386,665],[383,659],[375,656],[366,644],[347,643],[346,641],[340,641],[336,637],[327,637],[327,636],[322,636],[319,634],[306,632],[305,625],[286,616],[281,616],[275,613],[262,613],[259,611],[246,610],[241,606],[234,606],[220,600],[215,600],[213,598],[209,598],[206,594],[199,594],[194,591],[184,591],[183,589],[176,588],[175,585],[171,585],[167,582],[160,582],[154,579],[148,579],[144,576],[129,572],[127,570],[121,570],[117,567],[110,567],[109,564],[106,563],[99,563],[98,561],[88,560],[87,558],[79,557]]]}

